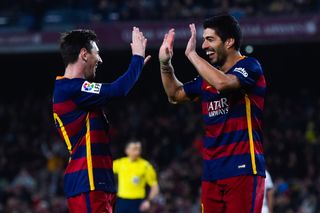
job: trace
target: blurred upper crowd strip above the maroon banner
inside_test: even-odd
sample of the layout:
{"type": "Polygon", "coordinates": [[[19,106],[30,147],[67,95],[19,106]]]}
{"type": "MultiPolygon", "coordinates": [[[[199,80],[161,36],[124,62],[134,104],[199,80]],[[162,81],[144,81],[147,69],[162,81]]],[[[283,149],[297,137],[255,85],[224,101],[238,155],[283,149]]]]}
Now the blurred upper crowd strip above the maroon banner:
{"type": "Polygon", "coordinates": [[[317,13],[319,0],[1,0],[0,30],[112,21],[202,19],[221,12],[238,17],[317,13]],[[72,13],[72,16],[69,14],[72,13]]]}

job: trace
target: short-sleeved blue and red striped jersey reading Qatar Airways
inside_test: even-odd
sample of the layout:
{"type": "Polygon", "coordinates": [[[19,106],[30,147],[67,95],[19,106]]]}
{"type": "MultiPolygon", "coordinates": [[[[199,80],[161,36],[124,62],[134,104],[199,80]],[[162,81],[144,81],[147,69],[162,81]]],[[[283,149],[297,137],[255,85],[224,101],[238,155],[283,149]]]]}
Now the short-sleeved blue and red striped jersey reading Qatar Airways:
{"type": "Polygon", "coordinates": [[[188,97],[199,97],[202,102],[203,180],[207,181],[239,175],[265,176],[263,70],[256,59],[244,57],[227,73],[237,76],[241,89],[219,92],[201,76],[183,86],[188,97]]]}

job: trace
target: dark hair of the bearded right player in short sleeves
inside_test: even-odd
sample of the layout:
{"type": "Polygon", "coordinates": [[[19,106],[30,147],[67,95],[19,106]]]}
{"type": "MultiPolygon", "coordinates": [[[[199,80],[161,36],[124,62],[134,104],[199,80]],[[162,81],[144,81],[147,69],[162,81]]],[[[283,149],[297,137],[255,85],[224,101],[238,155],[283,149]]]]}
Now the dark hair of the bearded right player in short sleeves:
{"type": "Polygon", "coordinates": [[[215,30],[217,35],[225,42],[228,38],[234,39],[234,48],[240,49],[242,33],[238,21],[231,15],[218,15],[208,18],[203,23],[203,28],[215,30]]]}

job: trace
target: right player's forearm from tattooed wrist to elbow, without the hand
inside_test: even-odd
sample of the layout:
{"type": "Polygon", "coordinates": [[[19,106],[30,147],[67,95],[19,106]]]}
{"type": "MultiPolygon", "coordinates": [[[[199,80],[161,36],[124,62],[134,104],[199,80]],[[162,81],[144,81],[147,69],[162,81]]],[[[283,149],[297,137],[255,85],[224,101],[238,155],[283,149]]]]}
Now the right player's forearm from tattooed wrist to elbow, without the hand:
{"type": "Polygon", "coordinates": [[[171,103],[175,103],[175,96],[179,88],[182,87],[182,83],[176,78],[174,74],[173,66],[170,62],[160,63],[161,80],[164,90],[171,103]]]}

